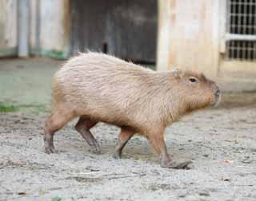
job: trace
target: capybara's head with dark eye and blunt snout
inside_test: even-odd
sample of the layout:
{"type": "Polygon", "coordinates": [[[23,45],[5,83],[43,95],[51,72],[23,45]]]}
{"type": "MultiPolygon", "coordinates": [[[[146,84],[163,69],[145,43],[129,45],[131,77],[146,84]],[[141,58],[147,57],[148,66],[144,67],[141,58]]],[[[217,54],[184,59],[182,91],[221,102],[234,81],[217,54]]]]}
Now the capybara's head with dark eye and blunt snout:
{"type": "Polygon", "coordinates": [[[178,69],[173,73],[182,89],[181,98],[188,110],[218,105],[221,91],[214,81],[207,79],[202,73],[178,69]]]}

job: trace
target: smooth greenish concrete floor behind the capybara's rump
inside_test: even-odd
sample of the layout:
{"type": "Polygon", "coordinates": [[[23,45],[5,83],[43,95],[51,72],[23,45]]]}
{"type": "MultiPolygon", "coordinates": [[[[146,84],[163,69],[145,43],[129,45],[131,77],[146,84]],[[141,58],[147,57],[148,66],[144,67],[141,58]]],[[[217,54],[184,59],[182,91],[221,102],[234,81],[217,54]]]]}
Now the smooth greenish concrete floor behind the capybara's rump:
{"type": "Polygon", "coordinates": [[[1,59],[0,105],[22,111],[45,111],[50,106],[50,83],[65,61],[50,58],[1,59]]]}

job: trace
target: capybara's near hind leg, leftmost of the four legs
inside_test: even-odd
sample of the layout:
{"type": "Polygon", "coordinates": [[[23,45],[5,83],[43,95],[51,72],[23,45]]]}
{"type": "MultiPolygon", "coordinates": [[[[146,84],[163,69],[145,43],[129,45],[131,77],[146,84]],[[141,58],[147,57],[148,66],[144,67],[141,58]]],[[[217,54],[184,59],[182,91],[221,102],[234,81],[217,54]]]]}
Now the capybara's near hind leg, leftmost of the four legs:
{"type": "Polygon", "coordinates": [[[62,128],[70,119],[71,115],[63,114],[62,112],[54,112],[46,120],[44,127],[44,144],[46,153],[55,153],[54,148],[54,132],[62,128]]]}

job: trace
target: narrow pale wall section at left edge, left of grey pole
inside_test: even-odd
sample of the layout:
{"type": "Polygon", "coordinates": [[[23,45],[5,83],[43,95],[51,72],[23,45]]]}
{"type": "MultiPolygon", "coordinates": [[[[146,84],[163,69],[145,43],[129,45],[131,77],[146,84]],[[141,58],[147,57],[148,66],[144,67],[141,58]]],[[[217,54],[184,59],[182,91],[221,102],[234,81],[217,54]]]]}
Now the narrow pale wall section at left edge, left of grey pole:
{"type": "Polygon", "coordinates": [[[0,1],[0,57],[17,54],[18,0],[0,1]]]}

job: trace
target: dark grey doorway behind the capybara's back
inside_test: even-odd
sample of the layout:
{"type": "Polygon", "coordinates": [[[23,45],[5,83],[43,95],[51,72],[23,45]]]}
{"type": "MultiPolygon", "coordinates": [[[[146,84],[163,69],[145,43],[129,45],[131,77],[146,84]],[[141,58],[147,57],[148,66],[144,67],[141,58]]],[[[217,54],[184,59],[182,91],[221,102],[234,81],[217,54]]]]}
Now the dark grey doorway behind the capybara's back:
{"type": "Polygon", "coordinates": [[[154,62],[157,0],[72,0],[71,53],[86,49],[154,62]]]}

